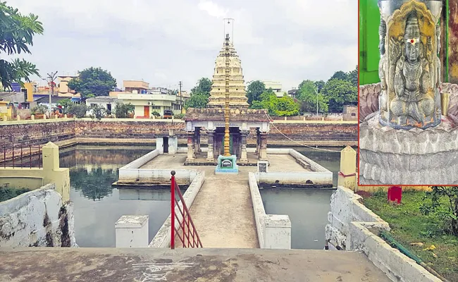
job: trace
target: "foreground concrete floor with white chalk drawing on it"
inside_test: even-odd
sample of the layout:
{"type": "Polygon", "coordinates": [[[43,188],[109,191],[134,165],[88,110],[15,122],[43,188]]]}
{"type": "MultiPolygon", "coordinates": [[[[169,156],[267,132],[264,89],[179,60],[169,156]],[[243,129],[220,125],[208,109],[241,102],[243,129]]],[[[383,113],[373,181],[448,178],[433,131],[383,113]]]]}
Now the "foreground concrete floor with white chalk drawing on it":
{"type": "Polygon", "coordinates": [[[0,248],[0,281],[366,281],[365,255],[322,250],[0,248]]]}

